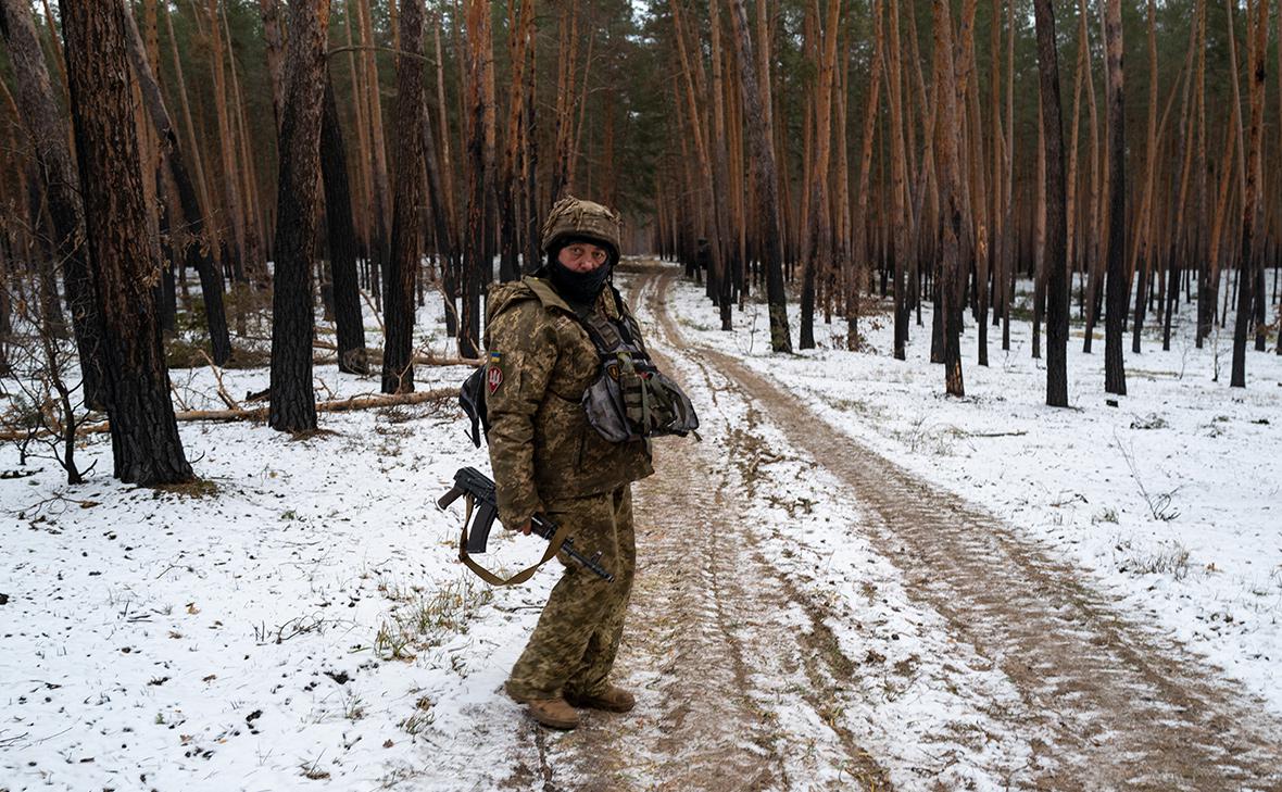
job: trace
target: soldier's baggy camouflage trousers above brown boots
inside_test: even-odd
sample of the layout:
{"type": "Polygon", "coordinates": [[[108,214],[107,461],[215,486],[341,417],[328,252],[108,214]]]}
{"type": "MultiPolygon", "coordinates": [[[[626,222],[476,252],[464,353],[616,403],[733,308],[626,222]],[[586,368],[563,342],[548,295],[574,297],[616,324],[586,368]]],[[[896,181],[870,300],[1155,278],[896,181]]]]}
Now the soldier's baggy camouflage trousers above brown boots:
{"type": "Polygon", "coordinates": [[[560,554],[564,574],[547,597],[506,688],[515,698],[594,696],[605,689],[614,666],[632,593],[636,570],[632,486],[549,502],[547,515],[569,525],[579,552],[591,555],[600,550],[601,565],[614,574],[614,582],[560,554]]]}

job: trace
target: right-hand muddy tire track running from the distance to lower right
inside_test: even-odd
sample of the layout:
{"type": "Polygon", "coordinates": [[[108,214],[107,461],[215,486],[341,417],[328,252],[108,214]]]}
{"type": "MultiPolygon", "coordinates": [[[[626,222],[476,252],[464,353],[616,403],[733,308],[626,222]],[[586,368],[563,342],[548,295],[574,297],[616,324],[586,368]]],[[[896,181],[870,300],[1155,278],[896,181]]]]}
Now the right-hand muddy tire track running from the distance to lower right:
{"type": "Polygon", "coordinates": [[[832,442],[827,424],[781,386],[728,355],[683,345],[665,310],[673,279],[670,270],[646,278],[670,347],[737,383],[794,447],[868,505],[879,518],[869,536],[913,596],[1015,684],[1024,706],[1006,716],[1033,736],[1033,760],[1011,783],[1282,789],[1282,724],[1237,686],[1127,620],[1072,565],[995,516],[849,437],[832,442]]]}

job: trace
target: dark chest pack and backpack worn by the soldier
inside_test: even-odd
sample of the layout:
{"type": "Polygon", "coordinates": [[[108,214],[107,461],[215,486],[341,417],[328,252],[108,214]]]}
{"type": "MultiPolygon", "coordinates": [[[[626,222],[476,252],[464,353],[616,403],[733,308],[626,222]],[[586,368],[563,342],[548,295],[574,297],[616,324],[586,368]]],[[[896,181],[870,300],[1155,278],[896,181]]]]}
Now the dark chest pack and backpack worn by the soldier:
{"type": "MultiPolygon", "coordinates": [[[[623,305],[618,290],[610,290],[615,304],[623,305]]],[[[609,442],[695,432],[699,415],[690,397],[655,367],[636,319],[620,314],[618,322],[612,322],[596,310],[574,311],[601,359],[601,373],[582,397],[587,422],[609,442]]],[[[472,420],[470,437],[478,449],[482,433],[490,433],[485,381],[486,367],[479,365],[459,391],[459,405],[472,420]]]]}

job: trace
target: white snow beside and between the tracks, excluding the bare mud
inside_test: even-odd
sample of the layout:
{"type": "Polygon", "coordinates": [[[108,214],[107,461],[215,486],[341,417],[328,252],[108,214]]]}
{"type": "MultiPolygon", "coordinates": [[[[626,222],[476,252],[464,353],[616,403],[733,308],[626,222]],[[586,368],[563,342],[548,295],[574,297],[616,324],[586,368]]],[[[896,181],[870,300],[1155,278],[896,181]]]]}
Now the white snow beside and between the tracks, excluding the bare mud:
{"type": "MultiPolygon", "coordinates": [[[[1103,341],[1085,356],[1078,331],[1073,409],[1053,410],[1015,323],[1009,355],[992,336],[987,369],[973,364],[968,332],[968,396],[953,400],[927,361],[924,328],[906,361],[888,356],[885,315],[865,327],[879,354],[840,351],[835,324],[817,328],[819,350],[777,356],[763,306],[736,313],[740,332],[726,334],[700,287],[674,293],[690,341],[776,377],[835,437],[849,433],[1078,563],[1282,713],[1282,360],[1251,352],[1249,387],[1231,391],[1211,382],[1217,349],[1227,379],[1227,334],[1199,351],[1181,326],[1170,352],[1146,338],[1142,356],[1127,355],[1131,395],[1111,408],[1103,341]]],[[[438,308],[420,310],[420,340],[445,352],[440,326],[438,308]]],[[[367,332],[377,346],[373,317],[367,332]]],[[[418,382],[454,388],[467,373],[420,367],[418,382]]],[[[223,377],[238,396],[268,374],[223,377]]],[[[183,405],[221,406],[209,370],[172,378],[183,405]]],[[[377,375],[332,365],[317,382],[320,399],[378,388],[377,375]]],[[[732,422],[741,409],[719,406],[732,422]]],[[[22,475],[0,479],[0,791],[485,789],[535,750],[518,742],[523,715],[500,686],[555,574],[490,590],[456,563],[462,507],[442,513],[435,500],[458,466],[488,465],[453,402],[323,414],[320,425],[290,440],[259,424],[183,423],[208,482],[185,492],[114,482],[101,434],[78,451],[97,468],[71,488],[56,464],[22,468],[0,447],[0,470],[22,475]]],[[[868,747],[896,780],[923,768],[994,786],[991,773],[1018,766],[1035,737],[982,714],[1014,698],[1009,681],[967,668],[969,650],[946,646],[938,616],[867,542],[828,536],[831,510],[796,523],[796,499],[818,501],[824,479],[804,492],[779,484],[804,459],[762,432],[777,455],[754,506],[763,552],[817,601],[849,609],[842,650],[885,668],[855,681],[844,718],[878,724],[868,747]],[[945,652],[963,666],[945,669],[945,652]],[[974,739],[941,745],[941,729],[962,723],[974,739]],[[963,745],[972,750],[958,755],[963,745]]],[[[486,563],[509,570],[541,550],[501,531],[492,541],[500,552],[486,563]]],[[[787,700],[763,704],[787,718],[787,700]]]]}

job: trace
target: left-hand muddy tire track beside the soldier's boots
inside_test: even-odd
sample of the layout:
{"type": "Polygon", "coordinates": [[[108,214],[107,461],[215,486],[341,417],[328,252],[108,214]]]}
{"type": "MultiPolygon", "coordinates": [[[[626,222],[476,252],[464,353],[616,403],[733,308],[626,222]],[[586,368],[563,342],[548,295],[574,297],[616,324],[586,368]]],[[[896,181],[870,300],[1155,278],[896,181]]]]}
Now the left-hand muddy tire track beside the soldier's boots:
{"type": "Polygon", "coordinates": [[[851,664],[826,614],[753,547],[727,460],[664,438],[655,469],[635,490],[638,570],[614,674],[637,707],[583,711],[568,733],[522,723],[518,741],[536,750],[506,786],[888,789],[827,711],[851,664]]]}

